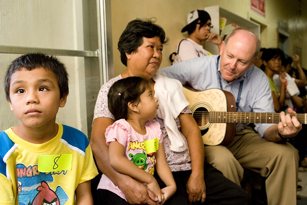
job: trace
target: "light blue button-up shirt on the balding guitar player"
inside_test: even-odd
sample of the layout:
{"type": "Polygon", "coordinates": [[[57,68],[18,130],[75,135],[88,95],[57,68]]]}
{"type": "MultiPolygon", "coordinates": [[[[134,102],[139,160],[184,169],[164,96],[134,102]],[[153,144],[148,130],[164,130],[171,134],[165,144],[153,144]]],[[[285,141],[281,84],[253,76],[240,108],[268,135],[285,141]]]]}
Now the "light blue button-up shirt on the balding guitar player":
{"type": "MultiPolygon", "coordinates": [[[[202,91],[219,88],[220,66],[218,55],[208,55],[179,62],[161,68],[159,72],[170,78],[178,79],[182,84],[190,84],[194,89],[202,91]]],[[[275,113],[272,91],[265,73],[252,65],[243,76],[227,83],[220,77],[222,89],[231,92],[237,100],[240,81],[244,80],[239,99],[238,112],[275,113]]],[[[256,124],[255,130],[263,138],[264,132],[274,124],[256,124]]]]}

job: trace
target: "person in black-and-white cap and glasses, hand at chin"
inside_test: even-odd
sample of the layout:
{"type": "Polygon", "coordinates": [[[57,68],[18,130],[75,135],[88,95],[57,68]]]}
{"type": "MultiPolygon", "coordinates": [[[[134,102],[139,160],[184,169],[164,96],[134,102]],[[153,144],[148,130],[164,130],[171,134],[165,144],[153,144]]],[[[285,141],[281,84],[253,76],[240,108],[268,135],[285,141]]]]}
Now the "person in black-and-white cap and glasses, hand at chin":
{"type": "Polygon", "coordinates": [[[181,40],[176,48],[179,61],[184,61],[200,56],[211,55],[203,48],[202,42],[211,42],[221,48],[222,39],[219,34],[211,33],[213,28],[210,15],[204,10],[191,11],[187,16],[187,25],[181,32],[188,32],[189,37],[181,40]]]}

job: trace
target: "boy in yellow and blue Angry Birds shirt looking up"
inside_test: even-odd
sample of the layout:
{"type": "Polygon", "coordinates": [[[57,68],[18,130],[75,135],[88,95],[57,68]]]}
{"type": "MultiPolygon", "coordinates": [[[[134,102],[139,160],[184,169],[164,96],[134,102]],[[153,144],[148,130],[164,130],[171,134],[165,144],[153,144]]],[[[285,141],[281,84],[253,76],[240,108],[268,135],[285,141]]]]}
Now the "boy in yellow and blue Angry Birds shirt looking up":
{"type": "Polygon", "coordinates": [[[4,89],[19,124],[0,132],[0,204],[93,204],[98,172],[88,138],[55,122],[68,96],[65,65],[22,55],[7,69],[4,89]]]}

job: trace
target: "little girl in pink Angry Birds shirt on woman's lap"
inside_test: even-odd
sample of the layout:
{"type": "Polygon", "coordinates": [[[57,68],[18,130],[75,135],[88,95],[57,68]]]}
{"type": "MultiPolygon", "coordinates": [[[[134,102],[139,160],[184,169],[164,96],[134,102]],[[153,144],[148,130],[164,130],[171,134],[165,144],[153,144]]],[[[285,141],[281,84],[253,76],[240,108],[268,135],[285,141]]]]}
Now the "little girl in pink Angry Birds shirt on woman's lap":
{"type": "MultiPolygon", "coordinates": [[[[156,117],[158,106],[148,80],[128,77],[116,81],[108,92],[108,108],[117,121],[108,126],[105,137],[113,169],[145,183],[157,196],[157,203],[163,204],[175,193],[176,183],[166,162],[160,124],[147,122],[156,117]],[[133,146],[135,143],[144,146],[133,146]],[[155,170],[166,184],[162,190],[153,176],[155,170]]],[[[102,175],[98,189],[116,193],[116,204],[128,204],[106,175],[102,175]]]]}

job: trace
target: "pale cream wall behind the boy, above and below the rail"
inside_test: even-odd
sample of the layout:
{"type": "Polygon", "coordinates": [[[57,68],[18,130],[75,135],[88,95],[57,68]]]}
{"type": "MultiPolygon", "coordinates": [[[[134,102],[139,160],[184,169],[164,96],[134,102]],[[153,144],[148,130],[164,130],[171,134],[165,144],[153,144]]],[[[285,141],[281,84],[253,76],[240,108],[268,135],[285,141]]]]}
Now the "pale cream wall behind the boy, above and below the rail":
{"type": "MultiPolygon", "coordinates": [[[[84,50],[82,1],[0,1],[0,45],[84,50]]],[[[0,130],[19,122],[5,99],[3,80],[21,54],[0,54],[0,130]]],[[[69,95],[56,121],[88,133],[84,58],[59,56],[69,73],[69,95]]],[[[99,83],[98,83],[99,84],[99,83]]]]}

